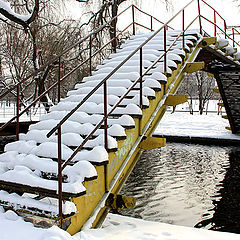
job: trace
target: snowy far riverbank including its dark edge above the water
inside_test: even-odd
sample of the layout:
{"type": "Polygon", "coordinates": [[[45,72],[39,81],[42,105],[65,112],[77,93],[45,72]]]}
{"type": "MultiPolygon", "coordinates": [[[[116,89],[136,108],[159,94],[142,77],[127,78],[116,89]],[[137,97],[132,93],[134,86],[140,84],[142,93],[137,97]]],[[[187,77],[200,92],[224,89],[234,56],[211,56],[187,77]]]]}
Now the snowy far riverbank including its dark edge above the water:
{"type": "Polygon", "coordinates": [[[200,143],[206,145],[240,145],[240,135],[232,134],[227,119],[217,113],[191,115],[188,112],[167,112],[153,136],[167,141],[200,143]]]}

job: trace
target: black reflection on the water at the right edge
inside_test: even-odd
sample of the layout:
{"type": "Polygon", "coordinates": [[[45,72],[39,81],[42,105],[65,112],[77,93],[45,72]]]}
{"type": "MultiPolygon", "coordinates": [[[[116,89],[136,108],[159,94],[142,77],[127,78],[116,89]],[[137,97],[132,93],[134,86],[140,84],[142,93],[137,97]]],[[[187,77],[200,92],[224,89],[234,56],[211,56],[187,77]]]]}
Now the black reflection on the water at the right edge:
{"type": "MultiPolygon", "coordinates": [[[[217,192],[219,199],[213,199],[212,217],[206,217],[196,227],[211,230],[240,233],[240,149],[229,153],[229,167],[217,192]]],[[[214,197],[215,198],[215,197],[214,197]]]]}

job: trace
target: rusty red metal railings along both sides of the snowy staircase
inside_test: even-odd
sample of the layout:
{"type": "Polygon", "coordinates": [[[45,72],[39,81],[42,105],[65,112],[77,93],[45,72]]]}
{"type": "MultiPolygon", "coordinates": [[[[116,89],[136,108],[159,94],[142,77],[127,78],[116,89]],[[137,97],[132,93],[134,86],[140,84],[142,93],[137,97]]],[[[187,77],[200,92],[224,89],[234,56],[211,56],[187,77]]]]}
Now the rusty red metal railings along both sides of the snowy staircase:
{"type": "MultiPolygon", "coordinates": [[[[18,95],[18,99],[17,99],[17,115],[15,117],[13,117],[9,122],[5,123],[1,128],[0,131],[5,128],[6,126],[8,126],[8,124],[10,124],[12,121],[16,120],[16,126],[17,126],[17,130],[16,130],[16,135],[18,136],[19,134],[19,118],[20,116],[22,116],[27,110],[30,109],[31,106],[33,106],[34,104],[36,104],[36,102],[38,102],[42,96],[46,95],[49,91],[51,91],[54,87],[58,87],[58,101],[60,101],[60,87],[61,87],[61,83],[67,79],[69,76],[71,76],[77,69],[79,69],[83,64],[88,63],[89,64],[89,69],[90,69],[90,74],[92,71],[92,58],[94,56],[96,56],[97,54],[99,54],[103,49],[105,49],[107,46],[109,46],[112,42],[115,42],[116,39],[122,35],[124,32],[126,32],[129,29],[132,29],[132,34],[136,34],[137,32],[137,26],[140,28],[145,28],[149,31],[153,31],[153,21],[157,21],[158,23],[161,24],[161,27],[158,28],[156,31],[153,32],[153,34],[146,40],[144,41],[137,49],[135,49],[131,54],[129,54],[128,56],[126,56],[126,58],[116,67],[114,68],[104,79],[102,79],[101,82],[99,82],[97,84],[97,86],[95,88],[93,88],[85,97],[84,99],[74,108],[72,109],[62,120],[59,121],[59,123],[57,124],[56,127],[54,127],[48,134],[47,137],[50,137],[53,133],[55,133],[56,131],[58,132],[58,197],[59,197],[59,218],[60,218],[60,225],[62,224],[62,171],[63,169],[73,160],[73,158],[76,156],[76,154],[84,147],[84,145],[86,144],[86,142],[93,136],[93,134],[97,131],[97,129],[99,129],[102,125],[104,125],[104,141],[105,141],[105,148],[108,149],[108,139],[107,139],[107,127],[108,127],[108,118],[109,116],[113,113],[113,111],[120,105],[120,103],[122,102],[122,100],[130,93],[131,90],[133,90],[133,88],[139,83],[140,85],[140,89],[139,89],[139,94],[140,94],[140,102],[139,105],[140,107],[142,107],[143,105],[143,92],[142,92],[142,81],[143,81],[143,77],[149,73],[149,71],[163,58],[164,61],[164,72],[166,74],[167,72],[167,54],[170,51],[170,49],[172,48],[172,46],[176,43],[176,41],[178,41],[180,38],[182,38],[182,47],[183,49],[185,48],[185,32],[198,21],[198,25],[199,25],[199,29],[200,32],[202,34],[208,35],[207,30],[203,29],[203,22],[206,21],[208,23],[210,23],[211,25],[213,25],[213,31],[214,31],[214,36],[218,36],[218,34],[224,34],[225,38],[230,39],[231,41],[233,41],[233,45],[238,45],[239,44],[237,42],[235,42],[235,35],[236,33],[239,33],[238,31],[233,30],[231,35],[227,34],[227,25],[226,25],[226,21],[224,20],[224,18],[221,17],[221,15],[214,9],[212,8],[208,3],[206,3],[204,0],[192,0],[191,2],[189,2],[183,9],[181,9],[175,16],[173,16],[169,21],[167,21],[165,24],[159,20],[157,20],[155,17],[145,13],[144,11],[140,10],[139,8],[137,8],[136,6],[132,5],[130,7],[128,7],[127,9],[125,9],[123,12],[121,12],[119,15],[117,15],[115,18],[111,19],[108,23],[106,23],[105,25],[101,26],[99,29],[97,29],[96,31],[94,31],[93,33],[90,33],[88,36],[86,36],[85,38],[83,38],[82,40],[80,40],[79,42],[77,42],[76,44],[74,44],[71,48],[68,48],[67,50],[65,50],[62,54],[59,54],[57,57],[55,57],[53,60],[51,60],[50,62],[48,62],[46,65],[42,66],[39,71],[42,71],[45,67],[48,66],[48,64],[52,64],[53,62],[58,61],[58,81],[55,82],[51,87],[49,87],[43,94],[41,94],[35,101],[33,101],[32,104],[30,104],[26,109],[24,109],[23,111],[19,111],[19,90],[20,90],[20,86],[22,83],[24,83],[25,81],[27,81],[29,78],[32,78],[34,76],[36,76],[39,71],[32,73],[31,75],[29,75],[27,78],[23,79],[22,81],[20,81],[17,85],[15,85],[14,87],[10,88],[8,91],[6,91],[4,94],[0,95],[0,99],[2,97],[4,97],[6,94],[8,94],[10,91],[14,90],[17,88],[17,95],[18,95]],[[193,4],[193,3],[197,3],[197,14],[196,16],[190,20],[188,23],[186,23],[186,13],[185,11],[193,4]],[[213,11],[213,21],[209,20],[207,17],[203,16],[201,14],[201,7],[202,6],[207,6],[208,8],[210,8],[210,10],[213,11]],[[93,41],[93,37],[94,34],[96,34],[97,32],[101,31],[102,29],[104,29],[104,27],[109,26],[109,24],[112,23],[112,21],[116,20],[119,16],[121,16],[122,14],[124,14],[125,12],[130,11],[132,14],[132,22],[126,26],[121,32],[119,32],[117,34],[116,29],[114,30],[114,32],[116,33],[115,37],[113,39],[111,39],[108,43],[106,43],[104,46],[102,46],[99,50],[97,50],[96,52],[92,52],[92,41],[93,41]],[[150,17],[150,26],[144,26],[140,23],[138,23],[136,21],[136,11],[138,11],[141,14],[144,14],[148,17],[150,17]],[[181,32],[179,33],[179,35],[176,37],[176,39],[173,41],[173,43],[167,47],[167,30],[168,29],[173,29],[172,27],[170,27],[170,24],[173,22],[173,20],[175,20],[177,17],[181,18],[182,21],[182,29],[181,32]],[[220,18],[221,22],[223,23],[223,27],[219,26],[218,23],[218,18],[220,18]],[[164,41],[164,51],[162,53],[162,55],[155,61],[152,63],[151,66],[149,66],[146,70],[143,69],[143,47],[151,40],[153,39],[160,31],[163,31],[163,41],[164,41]],[[84,42],[84,41],[89,41],[89,58],[87,58],[85,61],[79,63],[75,68],[73,68],[70,72],[68,72],[67,74],[65,74],[64,76],[61,76],[61,58],[62,56],[67,53],[68,51],[70,51],[71,49],[73,49],[73,47],[79,45],[80,43],[84,42]],[[107,111],[107,82],[108,79],[114,74],[116,73],[127,61],[129,61],[129,59],[134,56],[135,54],[139,53],[139,78],[132,84],[132,86],[130,88],[128,88],[127,92],[119,99],[119,101],[111,108],[111,110],[108,112],[107,111]],[[61,143],[62,143],[62,139],[61,139],[61,127],[63,125],[64,122],[66,122],[71,116],[72,114],[74,114],[89,98],[90,96],[92,96],[101,86],[103,86],[103,95],[104,95],[104,112],[103,112],[103,118],[102,120],[95,126],[95,128],[92,130],[92,132],[90,132],[88,134],[88,136],[83,140],[83,142],[75,149],[75,151],[73,152],[73,154],[70,156],[69,159],[67,159],[65,162],[62,163],[62,149],[61,149],[61,143]]],[[[116,26],[115,26],[116,27],[116,26]]],[[[116,44],[114,44],[114,46],[116,46],[116,44]]],[[[116,49],[113,49],[114,51],[116,49]]],[[[141,132],[140,132],[141,134],[141,132]]],[[[107,165],[105,166],[105,168],[107,169],[107,165]]],[[[105,169],[105,170],[106,170],[105,169]]],[[[106,170],[107,173],[107,170],[106,170]]],[[[107,175],[106,175],[107,178],[107,175]]],[[[108,186],[107,186],[107,181],[105,181],[105,190],[108,191],[108,186]]]]}

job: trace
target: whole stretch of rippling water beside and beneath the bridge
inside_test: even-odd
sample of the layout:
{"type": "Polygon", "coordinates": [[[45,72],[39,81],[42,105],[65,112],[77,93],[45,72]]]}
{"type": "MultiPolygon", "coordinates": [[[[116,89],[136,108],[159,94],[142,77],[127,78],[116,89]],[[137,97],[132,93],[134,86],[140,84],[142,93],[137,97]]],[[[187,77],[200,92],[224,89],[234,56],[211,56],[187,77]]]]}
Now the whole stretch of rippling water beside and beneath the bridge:
{"type": "Polygon", "coordinates": [[[122,189],[121,214],[240,233],[240,148],[168,143],[146,151],[122,189]]]}

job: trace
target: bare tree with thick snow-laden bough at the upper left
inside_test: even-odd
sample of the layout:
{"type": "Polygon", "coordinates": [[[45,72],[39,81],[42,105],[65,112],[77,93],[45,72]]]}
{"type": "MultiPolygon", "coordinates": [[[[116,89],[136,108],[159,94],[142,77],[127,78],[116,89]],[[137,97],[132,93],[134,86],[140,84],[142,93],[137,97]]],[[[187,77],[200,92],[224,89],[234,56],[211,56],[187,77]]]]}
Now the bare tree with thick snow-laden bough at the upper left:
{"type": "MultiPolygon", "coordinates": [[[[74,41],[77,32],[74,21],[58,17],[54,9],[56,6],[49,0],[12,1],[11,6],[6,1],[1,4],[0,19],[3,27],[0,57],[4,59],[4,67],[9,75],[5,77],[8,86],[39,70],[74,41]]],[[[54,64],[48,65],[22,86],[22,101],[40,96],[53,79],[56,79],[54,64]],[[26,90],[32,83],[35,87],[26,90]]],[[[49,110],[51,101],[48,95],[43,96],[40,101],[49,110]]]]}

